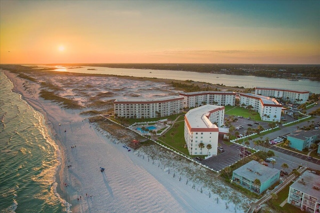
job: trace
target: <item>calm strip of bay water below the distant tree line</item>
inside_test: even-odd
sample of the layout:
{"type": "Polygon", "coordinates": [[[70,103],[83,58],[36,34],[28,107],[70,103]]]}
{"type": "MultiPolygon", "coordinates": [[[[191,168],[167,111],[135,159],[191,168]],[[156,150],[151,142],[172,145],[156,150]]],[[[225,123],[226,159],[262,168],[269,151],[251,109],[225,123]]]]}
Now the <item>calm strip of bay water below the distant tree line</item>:
{"type": "MultiPolygon", "coordinates": [[[[30,64],[28,64],[30,65],[30,64]]],[[[39,67],[52,67],[49,65],[33,64],[39,67]]],[[[312,93],[320,93],[320,81],[299,79],[291,81],[285,78],[260,77],[253,75],[232,75],[232,74],[216,74],[194,71],[179,70],[157,70],[157,69],[133,69],[133,68],[108,68],[99,66],[53,66],[56,71],[68,71],[77,73],[91,74],[114,74],[135,77],[150,77],[174,80],[193,80],[198,82],[206,82],[212,84],[223,84],[226,86],[243,86],[244,88],[272,87],[293,89],[298,91],[310,91],[312,93]]],[[[223,87],[221,87],[223,88],[223,87]]]]}

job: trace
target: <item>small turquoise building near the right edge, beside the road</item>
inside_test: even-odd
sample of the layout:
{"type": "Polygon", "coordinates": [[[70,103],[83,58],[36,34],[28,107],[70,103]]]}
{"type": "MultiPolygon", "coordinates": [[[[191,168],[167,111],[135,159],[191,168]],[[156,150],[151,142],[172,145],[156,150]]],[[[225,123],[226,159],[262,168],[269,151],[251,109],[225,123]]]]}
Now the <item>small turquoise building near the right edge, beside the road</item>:
{"type": "Polygon", "coordinates": [[[317,140],[318,130],[297,130],[287,135],[289,147],[302,151],[304,148],[310,148],[311,144],[317,140]]]}

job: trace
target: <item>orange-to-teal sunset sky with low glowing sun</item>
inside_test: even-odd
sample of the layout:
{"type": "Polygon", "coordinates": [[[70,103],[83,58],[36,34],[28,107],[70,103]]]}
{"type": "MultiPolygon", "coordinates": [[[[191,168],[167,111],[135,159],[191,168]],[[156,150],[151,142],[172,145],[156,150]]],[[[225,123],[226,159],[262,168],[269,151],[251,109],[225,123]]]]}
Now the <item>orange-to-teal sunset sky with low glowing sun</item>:
{"type": "Polygon", "coordinates": [[[320,1],[0,0],[0,63],[320,64],[320,1]]]}

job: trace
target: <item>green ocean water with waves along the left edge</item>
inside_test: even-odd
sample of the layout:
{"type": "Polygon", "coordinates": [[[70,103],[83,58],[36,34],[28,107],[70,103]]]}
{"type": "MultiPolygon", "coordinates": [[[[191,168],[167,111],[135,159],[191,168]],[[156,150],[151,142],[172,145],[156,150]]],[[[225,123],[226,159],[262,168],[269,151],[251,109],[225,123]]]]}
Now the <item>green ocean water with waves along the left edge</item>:
{"type": "Polygon", "coordinates": [[[0,212],[63,212],[56,192],[60,151],[44,117],[0,71],[0,212]]]}

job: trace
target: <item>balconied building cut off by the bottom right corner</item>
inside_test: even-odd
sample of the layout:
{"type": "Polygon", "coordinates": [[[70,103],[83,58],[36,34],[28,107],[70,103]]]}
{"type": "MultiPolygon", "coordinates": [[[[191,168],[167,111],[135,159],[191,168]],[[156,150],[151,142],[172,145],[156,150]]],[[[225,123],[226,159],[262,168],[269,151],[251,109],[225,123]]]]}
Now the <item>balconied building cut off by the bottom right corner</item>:
{"type": "Polygon", "coordinates": [[[287,203],[306,212],[320,212],[320,176],[303,172],[290,185],[287,203]]]}

